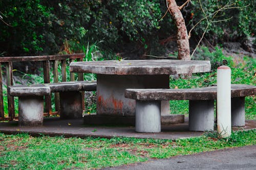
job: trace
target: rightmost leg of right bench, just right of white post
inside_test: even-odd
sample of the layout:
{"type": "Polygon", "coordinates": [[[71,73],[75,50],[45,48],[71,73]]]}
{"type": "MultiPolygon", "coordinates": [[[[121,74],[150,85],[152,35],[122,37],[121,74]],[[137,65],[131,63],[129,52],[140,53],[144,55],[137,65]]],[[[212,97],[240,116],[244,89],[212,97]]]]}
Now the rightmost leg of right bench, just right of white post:
{"type": "Polygon", "coordinates": [[[245,98],[231,98],[231,126],[245,126],[245,98]]]}

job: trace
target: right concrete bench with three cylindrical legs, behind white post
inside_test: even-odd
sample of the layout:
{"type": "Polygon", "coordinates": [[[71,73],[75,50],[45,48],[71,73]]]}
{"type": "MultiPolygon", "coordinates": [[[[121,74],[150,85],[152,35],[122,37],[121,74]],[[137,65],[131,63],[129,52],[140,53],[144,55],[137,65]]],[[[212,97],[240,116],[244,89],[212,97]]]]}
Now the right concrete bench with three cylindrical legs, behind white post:
{"type": "MultiPolygon", "coordinates": [[[[231,125],[245,126],[245,96],[256,86],[231,85],[231,125]]],[[[214,130],[217,86],[195,89],[126,89],[125,98],[136,100],[136,132],[160,132],[160,101],[189,100],[189,130],[214,130]]]]}

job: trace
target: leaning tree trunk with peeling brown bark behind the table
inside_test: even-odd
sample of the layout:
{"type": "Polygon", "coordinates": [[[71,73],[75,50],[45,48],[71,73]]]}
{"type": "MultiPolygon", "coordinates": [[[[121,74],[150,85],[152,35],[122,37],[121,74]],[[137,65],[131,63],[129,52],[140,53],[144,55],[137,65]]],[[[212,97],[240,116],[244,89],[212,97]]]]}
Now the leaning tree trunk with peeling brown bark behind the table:
{"type": "Polygon", "coordinates": [[[173,16],[174,22],[177,26],[177,43],[178,43],[178,59],[190,60],[189,38],[185,20],[180,12],[175,0],[168,0],[169,12],[173,16]]]}

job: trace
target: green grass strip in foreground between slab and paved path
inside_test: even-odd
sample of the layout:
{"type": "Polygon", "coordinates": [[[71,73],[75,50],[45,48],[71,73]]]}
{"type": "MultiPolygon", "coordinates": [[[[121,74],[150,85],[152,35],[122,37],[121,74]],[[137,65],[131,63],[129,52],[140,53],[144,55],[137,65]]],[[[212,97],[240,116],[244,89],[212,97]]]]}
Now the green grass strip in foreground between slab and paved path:
{"type": "Polygon", "coordinates": [[[0,169],[93,169],[256,144],[256,130],[187,139],[63,138],[0,133],[0,169]]]}

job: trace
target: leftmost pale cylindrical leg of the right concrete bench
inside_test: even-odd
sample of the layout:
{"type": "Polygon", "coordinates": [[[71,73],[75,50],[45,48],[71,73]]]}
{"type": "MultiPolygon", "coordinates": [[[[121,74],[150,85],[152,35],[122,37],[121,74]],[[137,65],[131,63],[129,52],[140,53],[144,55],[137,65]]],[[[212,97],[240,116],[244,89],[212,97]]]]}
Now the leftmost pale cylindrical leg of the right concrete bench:
{"type": "Polygon", "coordinates": [[[161,102],[136,101],[135,131],[161,132],[161,102]]]}

